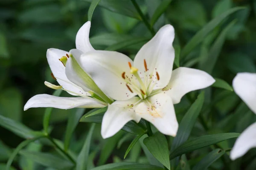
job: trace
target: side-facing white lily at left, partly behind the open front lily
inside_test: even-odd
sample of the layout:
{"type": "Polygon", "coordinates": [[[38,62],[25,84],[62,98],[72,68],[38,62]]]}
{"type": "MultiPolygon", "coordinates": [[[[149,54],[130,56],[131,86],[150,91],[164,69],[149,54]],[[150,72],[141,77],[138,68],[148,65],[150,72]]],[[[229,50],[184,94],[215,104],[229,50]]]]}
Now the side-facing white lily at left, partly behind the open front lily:
{"type": "Polygon", "coordinates": [[[31,107],[55,107],[59,109],[71,109],[74,107],[99,108],[112,103],[102,90],[95,84],[90,75],[84,72],[77,63],[82,54],[96,51],[89,41],[90,21],[85,23],[76,35],[76,48],[70,52],[60,49],[48,49],[47,61],[52,70],[52,77],[60,86],[45,82],[52,89],[63,89],[71,95],[81,96],[76,98],[56,97],[53,95],[35,95],[24,106],[24,110],[31,107]],[[92,95],[91,95],[92,94],[92,95]],[[93,98],[102,98],[98,100],[93,98]]]}

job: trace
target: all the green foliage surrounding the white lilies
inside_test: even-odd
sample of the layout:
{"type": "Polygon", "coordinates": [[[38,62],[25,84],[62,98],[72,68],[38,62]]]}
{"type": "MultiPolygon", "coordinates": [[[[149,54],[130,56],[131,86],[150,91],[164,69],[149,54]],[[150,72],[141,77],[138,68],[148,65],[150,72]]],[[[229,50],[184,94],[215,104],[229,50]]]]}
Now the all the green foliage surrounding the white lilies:
{"type": "MultiPolygon", "coordinates": [[[[118,167],[119,169],[129,168],[130,165],[138,170],[161,169],[149,165],[163,167],[160,162],[168,167],[168,163],[157,161],[148,151],[150,148],[145,145],[152,141],[144,140],[143,143],[145,135],[139,142],[134,142],[130,153],[123,160],[136,134],[143,134],[145,130],[136,129],[131,122],[131,127],[135,129],[126,127],[125,131],[133,134],[120,131],[103,140],[100,124],[84,122],[101,122],[104,109],[99,110],[97,116],[83,116],[81,121],[84,122],[79,123],[84,113],[89,112],[87,115],[90,115],[93,111],[44,108],[23,111],[25,102],[33,95],[53,93],[52,89],[44,86],[44,81],[54,82],[50,76],[46,51],[48,48],[66,51],[75,48],[76,32],[87,21],[91,1],[0,0],[0,169],[4,169],[14,148],[24,138],[35,140],[41,132],[50,134],[49,140],[44,138],[32,143],[28,141],[28,145],[23,143],[26,146],[14,158],[13,169],[69,169],[73,167],[73,163],[67,160],[76,160],[76,168],[81,170],[113,162],[121,162],[119,164],[123,167],[118,167]],[[50,116],[49,127],[47,115],[50,116]],[[60,148],[64,153],[58,150],[60,148]]],[[[175,67],[202,69],[230,85],[236,73],[256,72],[256,0],[137,0],[137,3],[149,24],[154,25],[155,31],[167,23],[175,27],[175,67]],[[207,32],[207,23],[238,6],[245,8],[237,9],[223,20],[218,19],[219,24],[208,26],[207,32]],[[204,32],[192,39],[202,28],[204,32]],[[180,60],[177,60],[178,56],[180,60]]],[[[130,0],[102,0],[96,6],[91,20],[90,42],[95,49],[117,50],[134,58],[140,47],[151,38],[151,32],[141,21],[141,16],[130,0]]],[[[228,84],[220,80],[215,87],[207,88],[204,98],[198,97],[198,100],[202,100],[201,104],[204,103],[202,109],[191,110],[199,92],[190,92],[180,104],[175,105],[178,122],[181,122],[180,128],[184,128],[185,132],[192,129],[190,136],[183,136],[180,144],[187,138],[196,140],[203,135],[241,133],[256,121],[253,113],[228,84]],[[199,114],[199,117],[195,117],[195,126],[190,124],[191,126],[186,127],[186,116],[189,118],[187,120],[191,120],[189,112],[191,116],[199,114]]],[[[60,92],[55,92],[55,95],[68,96],[66,92],[58,93],[60,92]]],[[[195,107],[199,107],[198,105],[195,107]]],[[[243,158],[230,161],[228,155],[234,140],[235,138],[215,144],[216,141],[212,143],[214,145],[209,143],[199,150],[187,150],[184,152],[186,154],[180,153],[183,154],[180,161],[171,154],[170,157],[175,158],[171,161],[171,168],[199,170],[209,165],[211,170],[255,170],[256,150],[250,150],[243,158]],[[201,159],[204,164],[209,160],[212,162],[204,165],[200,163],[201,159]]],[[[176,145],[171,151],[180,145],[172,141],[173,138],[167,136],[169,149],[176,145]]]]}

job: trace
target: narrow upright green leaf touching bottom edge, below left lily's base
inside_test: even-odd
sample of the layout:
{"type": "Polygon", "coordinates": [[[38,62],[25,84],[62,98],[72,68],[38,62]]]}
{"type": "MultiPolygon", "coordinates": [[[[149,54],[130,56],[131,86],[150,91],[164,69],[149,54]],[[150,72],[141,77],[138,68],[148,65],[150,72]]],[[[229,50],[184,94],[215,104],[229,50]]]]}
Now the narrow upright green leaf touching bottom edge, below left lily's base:
{"type": "Polygon", "coordinates": [[[87,135],[87,138],[84,142],[84,146],[79,153],[79,156],[76,161],[76,170],[85,170],[87,167],[87,162],[89,158],[89,151],[90,151],[90,143],[93,135],[93,130],[95,128],[95,124],[92,124],[89,133],[87,135]]]}

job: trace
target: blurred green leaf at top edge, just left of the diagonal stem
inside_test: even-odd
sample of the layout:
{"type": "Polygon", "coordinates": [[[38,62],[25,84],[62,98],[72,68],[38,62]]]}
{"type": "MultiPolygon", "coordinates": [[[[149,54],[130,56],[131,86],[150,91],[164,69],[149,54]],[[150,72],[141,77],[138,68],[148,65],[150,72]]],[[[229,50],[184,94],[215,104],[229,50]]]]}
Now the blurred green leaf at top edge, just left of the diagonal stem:
{"type": "MultiPolygon", "coordinates": [[[[92,2],[93,0],[84,1],[92,2]]],[[[108,9],[112,12],[116,12],[141,20],[140,15],[136,11],[130,0],[102,0],[99,2],[99,6],[102,6],[103,8],[108,9]]]]}

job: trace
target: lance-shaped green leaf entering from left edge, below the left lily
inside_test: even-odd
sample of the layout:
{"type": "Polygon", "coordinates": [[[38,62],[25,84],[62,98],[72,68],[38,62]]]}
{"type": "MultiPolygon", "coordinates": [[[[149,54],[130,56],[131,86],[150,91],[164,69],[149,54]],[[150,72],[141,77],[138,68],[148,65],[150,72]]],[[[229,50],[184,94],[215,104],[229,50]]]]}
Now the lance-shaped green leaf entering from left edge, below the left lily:
{"type": "Polygon", "coordinates": [[[33,131],[25,125],[0,115],[0,126],[12,131],[21,138],[34,138],[44,135],[41,132],[33,131]]]}

